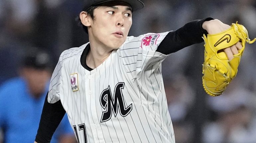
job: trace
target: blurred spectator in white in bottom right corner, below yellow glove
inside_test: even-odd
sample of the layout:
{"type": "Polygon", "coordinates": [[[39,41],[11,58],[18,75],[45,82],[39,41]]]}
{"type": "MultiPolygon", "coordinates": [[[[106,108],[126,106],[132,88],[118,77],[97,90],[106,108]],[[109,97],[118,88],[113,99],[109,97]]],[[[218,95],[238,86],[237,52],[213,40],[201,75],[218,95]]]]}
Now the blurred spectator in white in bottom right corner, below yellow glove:
{"type": "Polygon", "coordinates": [[[215,120],[204,127],[203,142],[207,143],[255,143],[256,97],[240,85],[239,77],[233,79],[223,95],[209,97],[210,111],[215,120]]]}

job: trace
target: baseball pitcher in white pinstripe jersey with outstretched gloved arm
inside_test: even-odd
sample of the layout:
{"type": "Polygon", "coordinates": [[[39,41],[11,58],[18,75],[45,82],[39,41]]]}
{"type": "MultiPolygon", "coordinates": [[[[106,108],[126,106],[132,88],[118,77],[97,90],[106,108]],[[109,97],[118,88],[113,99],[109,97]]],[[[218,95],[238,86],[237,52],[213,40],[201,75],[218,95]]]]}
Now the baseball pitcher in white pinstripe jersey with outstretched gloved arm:
{"type": "MultiPolygon", "coordinates": [[[[214,49],[223,49],[219,57],[230,61],[227,64],[232,67],[232,59],[238,64],[236,57],[240,59],[244,43],[250,41],[248,33],[238,36],[235,25],[212,18],[189,22],[176,31],[128,36],[132,13],[144,7],[140,0],[84,2],[78,20],[89,42],[61,54],[35,142],[50,142],[67,113],[78,143],[175,143],[161,73],[163,60],[203,42],[204,35],[206,55],[218,55],[214,49]],[[221,32],[223,37],[214,36],[221,32]]],[[[236,26],[245,30],[242,25],[236,26]]],[[[229,76],[224,70],[218,72],[216,63],[205,61],[203,87],[212,88],[209,80],[220,78],[215,72],[209,76],[209,72],[229,76]]]]}

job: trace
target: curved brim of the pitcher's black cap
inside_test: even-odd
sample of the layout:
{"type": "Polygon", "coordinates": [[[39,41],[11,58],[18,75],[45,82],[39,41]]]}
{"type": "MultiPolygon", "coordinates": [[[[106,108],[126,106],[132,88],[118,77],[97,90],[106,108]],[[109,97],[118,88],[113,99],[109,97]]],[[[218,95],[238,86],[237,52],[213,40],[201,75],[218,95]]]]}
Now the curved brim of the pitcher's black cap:
{"type": "Polygon", "coordinates": [[[132,7],[133,12],[138,11],[138,10],[140,10],[144,7],[144,3],[141,2],[140,0],[106,0],[106,1],[103,1],[103,2],[96,3],[94,5],[98,5],[98,4],[102,4],[102,3],[106,3],[106,2],[110,2],[110,1],[125,2],[125,3],[129,4],[132,7]]]}

